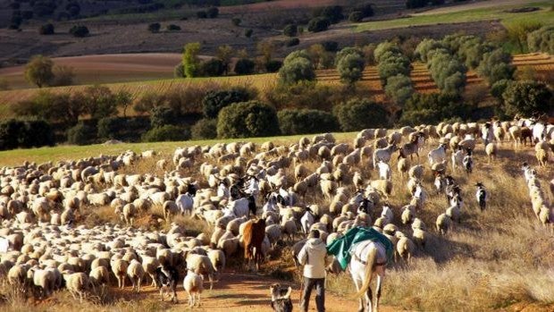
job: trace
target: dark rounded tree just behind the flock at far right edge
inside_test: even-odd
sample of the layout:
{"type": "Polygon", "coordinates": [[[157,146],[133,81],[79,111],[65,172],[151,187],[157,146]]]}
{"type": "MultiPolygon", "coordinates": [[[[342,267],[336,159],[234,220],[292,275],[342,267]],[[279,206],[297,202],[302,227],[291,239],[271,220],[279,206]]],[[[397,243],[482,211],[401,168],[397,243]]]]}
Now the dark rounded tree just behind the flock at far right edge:
{"type": "Polygon", "coordinates": [[[508,116],[552,114],[552,90],[543,82],[522,80],[509,83],[502,94],[508,116]]]}

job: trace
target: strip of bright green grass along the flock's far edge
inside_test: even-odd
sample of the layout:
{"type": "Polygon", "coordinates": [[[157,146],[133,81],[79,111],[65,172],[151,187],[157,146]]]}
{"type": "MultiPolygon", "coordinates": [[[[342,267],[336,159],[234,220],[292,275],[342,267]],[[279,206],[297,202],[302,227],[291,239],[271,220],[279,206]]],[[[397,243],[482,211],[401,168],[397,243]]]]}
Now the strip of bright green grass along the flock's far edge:
{"type": "MultiPolygon", "coordinates": [[[[334,133],[335,139],[345,141],[354,138],[356,132],[334,133]]],[[[88,146],[72,146],[59,145],[53,148],[28,148],[28,149],[13,149],[0,151],[0,166],[13,166],[22,164],[24,161],[36,162],[37,164],[48,161],[60,161],[79,159],[90,156],[117,155],[126,150],[133,150],[137,153],[148,149],[154,149],[158,154],[171,155],[175,148],[191,147],[195,145],[214,145],[218,142],[232,141],[252,141],[261,144],[264,141],[271,140],[275,144],[289,145],[291,142],[297,142],[301,137],[307,136],[312,138],[313,135],[296,135],[296,136],[281,136],[272,138],[250,138],[250,139],[208,139],[208,140],[189,140],[179,142],[153,142],[153,143],[122,143],[113,145],[88,145],[88,146]]],[[[348,141],[349,143],[349,141],[348,141]]]]}

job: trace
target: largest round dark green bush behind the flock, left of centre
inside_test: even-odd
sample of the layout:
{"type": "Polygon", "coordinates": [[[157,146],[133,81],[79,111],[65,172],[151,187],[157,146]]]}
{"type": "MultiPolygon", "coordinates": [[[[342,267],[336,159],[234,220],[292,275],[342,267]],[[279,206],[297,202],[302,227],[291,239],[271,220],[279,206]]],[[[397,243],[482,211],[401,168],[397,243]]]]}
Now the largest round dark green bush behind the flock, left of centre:
{"type": "Polygon", "coordinates": [[[217,117],[217,137],[222,139],[269,137],[280,132],[275,109],[258,101],[229,105],[217,117]]]}

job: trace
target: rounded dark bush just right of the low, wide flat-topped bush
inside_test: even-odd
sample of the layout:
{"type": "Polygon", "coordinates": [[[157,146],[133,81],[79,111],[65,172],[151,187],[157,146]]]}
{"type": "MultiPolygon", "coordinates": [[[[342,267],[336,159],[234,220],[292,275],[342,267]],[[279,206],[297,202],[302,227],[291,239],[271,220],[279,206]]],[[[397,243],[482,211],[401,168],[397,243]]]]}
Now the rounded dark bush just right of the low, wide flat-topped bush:
{"type": "Polygon", "coordinates": [[[360,131],[366,128],[385,128],[389,113],[382,105],[367,99],[352,99],[333,109],[342,131],[360,131]]]}

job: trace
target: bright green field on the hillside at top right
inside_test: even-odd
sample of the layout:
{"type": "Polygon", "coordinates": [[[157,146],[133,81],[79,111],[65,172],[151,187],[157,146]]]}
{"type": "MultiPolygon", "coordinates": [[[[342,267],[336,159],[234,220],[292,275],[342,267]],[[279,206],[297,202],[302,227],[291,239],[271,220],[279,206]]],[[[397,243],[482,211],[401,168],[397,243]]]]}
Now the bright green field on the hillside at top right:
{"type": "MultiPolygon", "coordinates": [[[[552,2],[525,2],[517,5],[502,5],[495,7],[468,9],[464,11],[456,11],[451,13],[421,13],[413,14],[406,18],[400,18],[387,21],[367,21],[356,24],[354,30],[357,32],[368,30],[388,30],[406,28],[410,26],[424,26],[457,22],[469,22],[469,21],[492,21],[500,20],[504,24],[518,21],[539,21],[542,25],[554,24],[554,12],[551,11],[552,2]],[[508,9],[522,7],[522,6],[534,6],[540,7],[541,11],[531,13],[507,13],[508,9]]],[[[456,8],[454,6],[453,8],[456,8]]]]}

